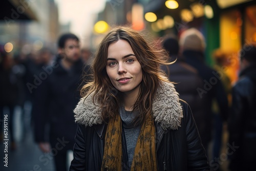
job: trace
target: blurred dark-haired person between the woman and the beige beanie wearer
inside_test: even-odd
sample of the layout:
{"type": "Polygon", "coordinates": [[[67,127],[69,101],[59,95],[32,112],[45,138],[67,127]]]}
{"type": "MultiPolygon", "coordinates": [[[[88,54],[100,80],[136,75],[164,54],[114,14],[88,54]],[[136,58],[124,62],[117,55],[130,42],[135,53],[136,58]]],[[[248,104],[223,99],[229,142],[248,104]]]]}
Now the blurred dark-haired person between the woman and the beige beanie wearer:
{"type": "Polygon", "coordinates": [[[189,104],[193,114],[200,115],[198,113],[200,113],[203,106],[197,88],[203,86],[202,78],[199,76],[197,69],[188,65],[184,57],[179,54],[179,41],[175,35],[164,37],[162,46],[168,52],[169,60],[176,60],[172,65],[166,66],[167,70],[163,67],[169,80],[175,83],[174,86],[180,98],[189,104]]]}

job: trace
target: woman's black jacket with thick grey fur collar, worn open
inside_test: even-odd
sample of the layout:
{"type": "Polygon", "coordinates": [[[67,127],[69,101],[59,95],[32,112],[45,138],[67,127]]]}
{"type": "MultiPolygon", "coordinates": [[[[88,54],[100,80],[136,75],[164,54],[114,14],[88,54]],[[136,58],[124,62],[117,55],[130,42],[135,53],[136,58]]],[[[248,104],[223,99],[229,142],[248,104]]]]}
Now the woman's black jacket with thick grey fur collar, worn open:
{"type": "MultiPolygon", "coordinates": [[[[83,100],[75,109],[78,129],[70,170],[100,170],[107,126],[90,96],[84,103],[83,100]]],[[[158,91],[153,112],[158,170],[208,170],[191,110],[186,102],[179,100],[173,84],[164,83],[163,91],[158,91]]]]}

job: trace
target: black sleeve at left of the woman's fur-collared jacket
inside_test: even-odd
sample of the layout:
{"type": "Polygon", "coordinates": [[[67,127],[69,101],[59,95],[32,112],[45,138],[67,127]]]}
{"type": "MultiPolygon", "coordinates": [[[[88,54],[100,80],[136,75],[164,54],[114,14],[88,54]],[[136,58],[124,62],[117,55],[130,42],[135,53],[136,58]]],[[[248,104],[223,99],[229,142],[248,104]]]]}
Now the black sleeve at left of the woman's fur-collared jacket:
{"type": "Polygon", "coordinates": [[[70,171],[86,170],[86,142],[84,141],[84,125],[78,124],[75,145],[74,159],[71,162],[70,171]]]}

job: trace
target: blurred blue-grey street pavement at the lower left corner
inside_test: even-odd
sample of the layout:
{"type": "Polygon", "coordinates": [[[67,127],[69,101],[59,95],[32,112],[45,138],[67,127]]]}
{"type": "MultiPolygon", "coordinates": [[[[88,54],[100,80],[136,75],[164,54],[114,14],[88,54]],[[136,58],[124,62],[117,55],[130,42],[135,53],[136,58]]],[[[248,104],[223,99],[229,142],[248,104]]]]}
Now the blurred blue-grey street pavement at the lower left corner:
{"type": "MultiPolygon", "coordinates": [[[[31,171],[31,170],[47,170],[52,171],[53,159],[48,158],[40,151],[37,144],[33,141],[32,129],[30,127],[30,116],[24,116],[25,126],[22,126],[22,116],[20,110],[16,108],[14,114],[14,138],[16,140],[16,149],[11,150],[11,142],[8,141],[8,152],[5,152],[4,141],[1,140],[1,166],[3,171],[31,171]],[[25,130],[25,131],[24,131],[25,130]],[[26,132],[26,133],[24,133],[26,132]],[[4,155],[8,155],[8,167],[4,166],[4,155]],[[48,160],[49,159],[49,160],[48,160]]],[[[2,124],[1,124],[2,126],[2,124]]]]}

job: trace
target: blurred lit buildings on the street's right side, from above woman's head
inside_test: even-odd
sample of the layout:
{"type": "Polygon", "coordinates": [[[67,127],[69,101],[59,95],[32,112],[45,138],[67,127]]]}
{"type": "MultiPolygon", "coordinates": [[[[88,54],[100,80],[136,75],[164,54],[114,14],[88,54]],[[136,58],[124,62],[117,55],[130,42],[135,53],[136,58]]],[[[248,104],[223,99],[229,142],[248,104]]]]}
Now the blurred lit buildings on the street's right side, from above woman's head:
{"type": "Polygon", "coordinates": [[[214,65],[214,50],[221,49],[228,55],[225,72],[232,82],[237,80],[238,51],[244,44],[256,43],[256,1],[251,0],[110,0],[95,23],[99,20],[108,27],[100,33],[94,31],[91,44],[94,47],[104,33],[117,25],[144,29],[156,38],[170,33],[179,36],[184,30],[195,27],[206,38],[208,65],[214,65]]]}

